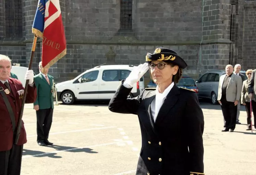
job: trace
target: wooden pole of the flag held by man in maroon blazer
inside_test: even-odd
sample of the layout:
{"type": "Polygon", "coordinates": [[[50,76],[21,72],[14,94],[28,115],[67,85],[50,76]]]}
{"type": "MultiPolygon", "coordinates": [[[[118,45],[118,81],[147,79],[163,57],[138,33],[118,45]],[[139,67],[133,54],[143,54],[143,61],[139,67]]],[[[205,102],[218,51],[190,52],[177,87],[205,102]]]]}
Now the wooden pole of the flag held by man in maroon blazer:
{"type": "MultiPolygon", "coordinates": [[[[35,49],[36,49],[36,42],[37,42],[37,37],[36,35],[34,35],[34,40],[33,40],[33,45],[32,45],[32,50],[31,50],[31,55],[30,55],[30,60],[29,60],[29,64],[28,64],[28,70],[31,70],[32,68],[32,62],[33,62],[33,57],[34,57],[34,53],[35,53],[35,49]]],[[[19,137],[20,137],[20,133],[21,133],[21,121],[22,121],[22,116],[23,116],[23,111],[24,111],[24,105],[25,105],[25,101],[26,101],[26,96],[27,96],[27,88],[28,88],[28,82],[29,80],[26,80],[26,84],[25,84],[25,90],[24,90],[24,96],[22,99],[22,105],[21,105],[21,111],[20,111],[20,116],[19,116],[19,122],[18,122],[18,127],[15,133],[15,138],[14,138],[14,144],[16,145],[19,141],[19,137]]]]}

